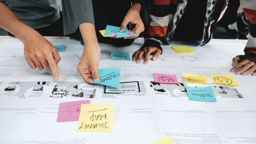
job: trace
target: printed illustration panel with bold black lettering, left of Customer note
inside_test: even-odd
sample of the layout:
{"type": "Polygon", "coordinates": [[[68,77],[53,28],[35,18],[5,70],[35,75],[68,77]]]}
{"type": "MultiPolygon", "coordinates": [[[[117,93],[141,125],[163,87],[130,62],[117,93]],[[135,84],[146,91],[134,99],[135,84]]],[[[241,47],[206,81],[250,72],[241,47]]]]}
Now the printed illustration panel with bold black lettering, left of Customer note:
{"type": "Polygon", "coordinates": [[[95,98],[96,85],[79,82],[58,82],[50,98],[95,98]]]}

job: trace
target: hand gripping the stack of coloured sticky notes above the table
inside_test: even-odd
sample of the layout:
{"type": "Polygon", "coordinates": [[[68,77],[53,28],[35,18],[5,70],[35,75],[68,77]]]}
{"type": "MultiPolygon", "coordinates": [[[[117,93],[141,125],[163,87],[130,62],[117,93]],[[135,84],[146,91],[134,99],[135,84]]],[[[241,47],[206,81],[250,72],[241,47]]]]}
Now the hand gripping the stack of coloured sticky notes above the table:
{"type": "Polygon", "coordinates": [[[125,39],[137,38],[142,31],[144,31],[144,24],[140,18],[140,9],[141,5],[139,3],[135,3],[131,9],[126,13],[124,20],[121,24],[120,33],[123,33],[126,26],[129,25],[131,29],[130,32],[136,34],[137,36],[125,37],[125,39]]]}

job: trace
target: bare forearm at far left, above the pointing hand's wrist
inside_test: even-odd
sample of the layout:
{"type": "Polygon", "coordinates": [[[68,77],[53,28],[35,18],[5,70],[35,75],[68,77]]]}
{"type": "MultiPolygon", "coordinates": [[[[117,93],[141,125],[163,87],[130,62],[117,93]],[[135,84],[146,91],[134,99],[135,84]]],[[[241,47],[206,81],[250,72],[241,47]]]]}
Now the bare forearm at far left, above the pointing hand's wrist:
{"type": "Polygon", "coordinates": [[[26,41],[26,35],[34,29],[21,22],[16,15],[5,4],[0,2],[0,27],[9,31],[20,39],[21,42],[26,41]]]}

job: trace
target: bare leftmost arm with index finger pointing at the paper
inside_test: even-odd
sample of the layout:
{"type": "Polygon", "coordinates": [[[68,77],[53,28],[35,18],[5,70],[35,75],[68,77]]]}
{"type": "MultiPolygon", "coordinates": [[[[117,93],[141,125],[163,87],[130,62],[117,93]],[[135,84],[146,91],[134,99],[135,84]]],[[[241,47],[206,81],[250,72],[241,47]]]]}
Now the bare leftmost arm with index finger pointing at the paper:
{"type": "Polygon", "coordinates": [[[5,4],[0,2],[0,27],[20,39],[24,45],[24,57],[30,68],[52,70],[55,81],[59,78],[57,63],[60,56],[42,35],[21,22],[5,4]]]}

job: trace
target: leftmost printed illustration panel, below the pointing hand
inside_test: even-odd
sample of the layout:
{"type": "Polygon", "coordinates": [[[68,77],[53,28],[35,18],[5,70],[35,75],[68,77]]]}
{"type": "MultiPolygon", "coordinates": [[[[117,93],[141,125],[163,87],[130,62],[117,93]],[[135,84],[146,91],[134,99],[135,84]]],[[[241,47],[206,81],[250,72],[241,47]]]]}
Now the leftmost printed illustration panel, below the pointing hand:
{"type": "Polygon", "coordinates": [[[10,82],[0,93],[4,98],[41,98],[51,82],[10,82]]]}

